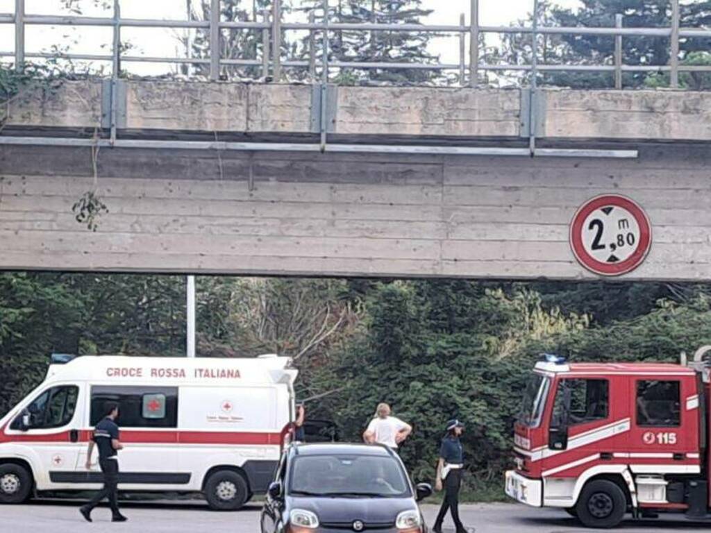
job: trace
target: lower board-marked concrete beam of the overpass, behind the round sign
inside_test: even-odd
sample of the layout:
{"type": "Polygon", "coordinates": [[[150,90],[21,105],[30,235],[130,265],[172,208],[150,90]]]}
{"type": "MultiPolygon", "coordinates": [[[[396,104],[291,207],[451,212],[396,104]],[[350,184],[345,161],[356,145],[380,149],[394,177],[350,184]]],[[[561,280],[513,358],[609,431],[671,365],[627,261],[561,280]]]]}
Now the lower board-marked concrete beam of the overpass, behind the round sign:
{"type": "Polygon", "coordinates": [[[590,279],[570,251],[600,193],[654,232],[625,279],[711,279],[711,152],[643,146],[638,160],[102,149],[96,232],[72,205],[88,149],[0,148],[0,269],[590,279]]]}

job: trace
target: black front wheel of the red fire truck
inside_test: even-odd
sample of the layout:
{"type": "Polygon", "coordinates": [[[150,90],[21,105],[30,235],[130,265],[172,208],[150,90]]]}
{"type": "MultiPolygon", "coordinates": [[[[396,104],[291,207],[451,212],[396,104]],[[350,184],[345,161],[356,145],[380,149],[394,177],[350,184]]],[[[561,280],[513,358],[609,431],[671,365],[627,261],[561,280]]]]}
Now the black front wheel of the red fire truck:
{"type": "Polygon", "coordinates": [[[627,500],[616,483],[593,480],[580,492],[575,510],[586,527],[615,527],[624,518],[627,500]]]}

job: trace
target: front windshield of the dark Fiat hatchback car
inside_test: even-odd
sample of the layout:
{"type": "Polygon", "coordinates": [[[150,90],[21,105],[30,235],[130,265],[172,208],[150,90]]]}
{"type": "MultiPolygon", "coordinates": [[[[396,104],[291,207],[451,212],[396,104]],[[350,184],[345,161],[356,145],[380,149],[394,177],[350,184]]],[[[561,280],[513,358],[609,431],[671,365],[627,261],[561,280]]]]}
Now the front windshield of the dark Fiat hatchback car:
{"type": "Polygon", "coordinates": [[[407,497],[410,484],[400,463],[383,456],[297,456],[289,493],[322,497],[407,497]]]}

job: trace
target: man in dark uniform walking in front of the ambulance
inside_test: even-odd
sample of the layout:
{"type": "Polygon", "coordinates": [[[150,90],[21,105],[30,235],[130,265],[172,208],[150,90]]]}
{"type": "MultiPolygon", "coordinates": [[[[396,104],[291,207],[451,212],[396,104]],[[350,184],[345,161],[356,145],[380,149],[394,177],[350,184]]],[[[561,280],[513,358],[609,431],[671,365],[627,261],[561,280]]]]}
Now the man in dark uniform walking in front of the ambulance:
{"type": "Polygon", "coordinates": [[[91,522],[92,510],[106,497],[109,499],[109,506],[111,507],[112,522],[126,522],[127,518],[119,512],[117,502],[119,475],[117,453],[123,448],[121,441],[119,441],[119,426],[116,425],[116,419],[119,416],[119,405],[114,402],[107,403],[105,413],[105,419],[96,425],[94,436],[89,441],[86,462],[87,470],[91,470],[91,456],[96,444],[99,449],[99,465],[104,474],[104,488],[87,505],[81,507],[79,512],[87,522],[91,522]]]}

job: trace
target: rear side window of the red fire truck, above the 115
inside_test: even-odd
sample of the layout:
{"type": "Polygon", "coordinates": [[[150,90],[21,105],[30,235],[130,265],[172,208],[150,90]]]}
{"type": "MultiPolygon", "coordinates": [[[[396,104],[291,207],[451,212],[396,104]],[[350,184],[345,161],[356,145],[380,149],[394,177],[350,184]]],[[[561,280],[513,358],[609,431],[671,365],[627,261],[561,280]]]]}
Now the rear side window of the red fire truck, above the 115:
{"type": "Polygon", "coordinates": [[[679,426],[681,399],[678,381],[637,382],[637,425],[679,426]]]}

